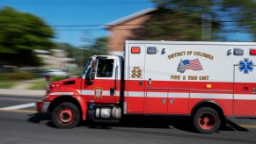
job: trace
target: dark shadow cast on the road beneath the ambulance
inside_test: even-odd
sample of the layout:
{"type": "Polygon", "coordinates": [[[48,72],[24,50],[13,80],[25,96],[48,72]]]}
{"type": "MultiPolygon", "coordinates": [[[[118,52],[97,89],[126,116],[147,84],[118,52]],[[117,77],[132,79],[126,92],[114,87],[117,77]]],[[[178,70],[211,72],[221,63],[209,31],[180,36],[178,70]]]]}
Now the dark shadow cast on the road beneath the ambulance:
{"type": "MultiPolygon", "coordinates": [[[[51,115],[49,113],[34,113],[29,115],[27,121],[32,123],[40,123],[47,121],[46,125],[55,127],[51,115]]],[[[111,127],[138,127],[138,128],[161,128],[161,129],[179,129],[181,131],[197,133],[194,129],[192,119],[190,117],[163,117],[163,116],[128,116],[122,119],[120,123],[97,123],[88,125],[86,122],[81,122],[79,126],[86,126],[88,128],[104,128],[111,129],[111,127]]],[[[220,128],[220,131],[248,131],[246,128],[238,126],[236,123],[227,119],[227,125],[220,128]]]]}

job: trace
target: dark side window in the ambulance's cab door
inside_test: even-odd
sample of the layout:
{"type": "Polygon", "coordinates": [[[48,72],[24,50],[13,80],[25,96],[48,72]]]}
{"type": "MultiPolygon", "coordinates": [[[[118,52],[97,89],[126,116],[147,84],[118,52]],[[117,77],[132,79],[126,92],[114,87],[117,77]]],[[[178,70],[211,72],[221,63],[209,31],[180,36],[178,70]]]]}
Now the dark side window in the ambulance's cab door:
{"type": "Polygon", "coordinates": [[[104,59],[98,61],[97,77],[113,76],[113,59],[104,59]]]}

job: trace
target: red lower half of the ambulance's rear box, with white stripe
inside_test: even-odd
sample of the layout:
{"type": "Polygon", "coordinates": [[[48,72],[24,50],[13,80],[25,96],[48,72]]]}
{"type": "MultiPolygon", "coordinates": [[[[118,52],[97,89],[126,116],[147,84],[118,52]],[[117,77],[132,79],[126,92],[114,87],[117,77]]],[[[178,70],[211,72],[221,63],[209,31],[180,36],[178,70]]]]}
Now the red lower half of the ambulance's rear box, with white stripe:
{"type": "Polygon", "coordinates": [[[152,81],[149,86],[147,81],[143,81],[144,87],[138,86],[139,81],[126,81],[126,83],[128,84],[126,84],[125,91],[145,91],[144,94],[141,93],[141,96],[128,95],[126,97],[128,113],[189,115],[196,104],[202,101],[211,101],[222,108],[224,115],[256,116],[255,99],[234,99],[236,95],[256,97],[252,93],[255,83],[152,81]],[[210,89],[207,88],[207,84],[211,85],[210,89]],[[245,90],[245,87],[248,90],[245,90]],[[159,92],[159,94],[156,94],[156,97],[147,97],[149,92],[153,94],[159,92]],[[175,94],[179,94],[179,96],[175,97],[175,94]],[[171,100],[174,101],[173,104],[170,103],[171,100]]]}

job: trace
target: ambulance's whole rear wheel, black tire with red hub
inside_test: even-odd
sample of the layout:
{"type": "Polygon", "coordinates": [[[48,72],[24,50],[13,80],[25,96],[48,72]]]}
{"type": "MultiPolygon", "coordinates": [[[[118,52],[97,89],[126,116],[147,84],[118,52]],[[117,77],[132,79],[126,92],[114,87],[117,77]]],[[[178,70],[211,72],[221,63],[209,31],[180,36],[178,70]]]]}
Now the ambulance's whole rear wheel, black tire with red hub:
{"type": "Polygon", "coordinates": [[[221,119],[218,113],[209,107],[201,107],[194,114],[194,128],[199,133],[215,133],[220,125],[221,119]]]}

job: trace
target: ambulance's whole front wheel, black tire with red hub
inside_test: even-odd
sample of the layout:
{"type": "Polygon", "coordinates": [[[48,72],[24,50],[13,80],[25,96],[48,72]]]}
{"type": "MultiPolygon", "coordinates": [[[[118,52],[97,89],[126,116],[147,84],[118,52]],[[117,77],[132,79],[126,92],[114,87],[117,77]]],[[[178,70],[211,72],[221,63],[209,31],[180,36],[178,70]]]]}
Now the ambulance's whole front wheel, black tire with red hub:
{"type": "Polygon", "coordinates": [[[74,128],[80,121],[80,112],[75,104],[62,103],[55,107],[52,119],[57,128],[74,128]]]}

